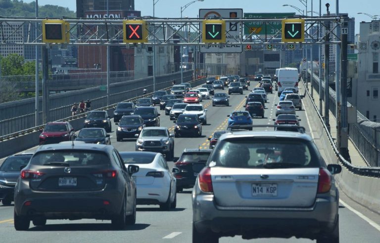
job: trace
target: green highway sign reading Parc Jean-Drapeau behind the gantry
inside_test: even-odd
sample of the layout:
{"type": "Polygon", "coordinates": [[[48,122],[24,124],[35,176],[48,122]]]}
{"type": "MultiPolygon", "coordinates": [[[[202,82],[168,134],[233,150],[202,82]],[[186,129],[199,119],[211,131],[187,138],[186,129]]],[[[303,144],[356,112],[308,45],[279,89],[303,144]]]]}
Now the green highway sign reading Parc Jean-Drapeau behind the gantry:
{"type": "MultiPolygon", "coordinates": [[[[295,13],[244,13],[244,18],[259,19],[259,18],[284,18],[292,17],[295,13]]],[[[281,31],[282,23],[279,21],[271,21],[265,24],[262,21],[246,22],[244,24],[244,35],[250,35],[252,33],[256,35],[275,35],[281,31]]]]}

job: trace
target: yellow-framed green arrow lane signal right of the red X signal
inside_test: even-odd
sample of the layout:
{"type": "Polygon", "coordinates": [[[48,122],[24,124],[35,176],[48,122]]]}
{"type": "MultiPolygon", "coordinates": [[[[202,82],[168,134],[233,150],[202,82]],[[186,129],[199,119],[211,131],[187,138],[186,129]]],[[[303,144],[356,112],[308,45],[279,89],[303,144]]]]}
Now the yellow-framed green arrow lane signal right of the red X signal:
{"type": "Polygon", "coordinates": [[[226,21],[224,20],[203,20],[202,41],[204,43],[225,43],[226,42],[226,21]]]}

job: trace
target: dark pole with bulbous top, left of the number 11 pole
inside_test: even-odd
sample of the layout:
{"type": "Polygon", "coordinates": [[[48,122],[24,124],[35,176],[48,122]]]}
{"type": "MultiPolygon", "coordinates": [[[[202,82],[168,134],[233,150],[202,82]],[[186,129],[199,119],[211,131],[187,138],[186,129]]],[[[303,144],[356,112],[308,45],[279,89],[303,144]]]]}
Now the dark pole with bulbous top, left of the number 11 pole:
{"type": "MultiPolygon", "coordinates": [[[[330,4],[326,3],[327,7],[327,15],[330,16],[330,11],[329,7],[330,4]]],[[[325,36],[325,41],[329,42],[330,41],[330,21],[326,22],[326,36],[325,36]]],[[[330,106],[330,97],[329,97],[329,82],[330,82],[330,75],[329,75],[329,65],[330,65],[330,45],[326,44],[325,45],[325,123],[326,126],[330,132],[330,118],[329,118],[329,106],[330,106]]]]}

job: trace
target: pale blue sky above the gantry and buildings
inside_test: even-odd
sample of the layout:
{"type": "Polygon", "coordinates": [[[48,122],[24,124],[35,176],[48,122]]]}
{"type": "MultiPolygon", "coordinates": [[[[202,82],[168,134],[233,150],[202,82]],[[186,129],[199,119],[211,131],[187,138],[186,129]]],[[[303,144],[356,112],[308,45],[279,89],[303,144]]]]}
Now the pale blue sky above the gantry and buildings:
{"type": "MultiPolygon", "coordinates": [[[[34,0],[24,0],[32,2],[34,0]]],[[[156,0],[135,0],[135,10],[140,10],[142,16],[153,15],[153,1],[156,0]]],[[[308,11],[311,10],[311,2],[308,1],[308,11]]],[[[155,4],[155,16],[175,18],[181,16],[181,6],[185,6],[191,0],[158,0],[155,4]]],[[[322,13],[326,13],[325,4],[330,3],[331,13],[335,13],[336,0],[322,0],[322,13]]],[[[39,0],[40,5],[57,4],[68,7],[76,11],[76,0],[39,0]]],[[[183,16],[190,18],[197,17],[199,8],[242,8],[244,13],[262,13],[262,12],[296,12],[292,7],[284,7],[283,4],[294,5],[304,9],[301,0],[203,0],[192,3],[183,11],[183,16]],[[232,3],[233,2],[233,3],[232,3]],[[263,4],[263,2],[266,4],[263,4]]],[[[359,23],[362,21],[369,22],[371,18],[358,12],[368,13],[370,15],[380,15],[379,0],[340,0],[339,12],[348,13],[350,17],[355,18],[355,33],[359,33],[359,23]],[[358,5],[359,4],[359,5],[358,5]]],[[[313,11],[319,12],[319,0],[313,1],[313,11]]],[[[311,13],[309,13],[311,14],[311,13]]]]}

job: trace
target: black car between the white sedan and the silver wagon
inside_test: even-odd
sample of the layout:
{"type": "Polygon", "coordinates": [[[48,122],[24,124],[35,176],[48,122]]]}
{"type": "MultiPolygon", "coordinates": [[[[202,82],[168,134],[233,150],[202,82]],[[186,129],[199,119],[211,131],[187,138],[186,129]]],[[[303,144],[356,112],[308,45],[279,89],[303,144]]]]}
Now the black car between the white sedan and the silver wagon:
{"type": "Polygon", "coordinates": [[[181,157],[175,163],[177,169],[173,169],[177,178],[177,192],[184,188],[192,188],[198,173],[204,168],[211,149],[185,149],[181,157]]]}

